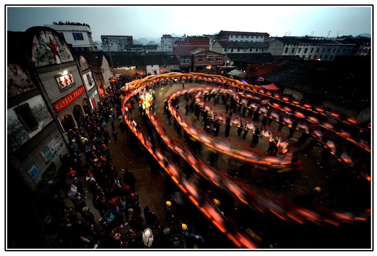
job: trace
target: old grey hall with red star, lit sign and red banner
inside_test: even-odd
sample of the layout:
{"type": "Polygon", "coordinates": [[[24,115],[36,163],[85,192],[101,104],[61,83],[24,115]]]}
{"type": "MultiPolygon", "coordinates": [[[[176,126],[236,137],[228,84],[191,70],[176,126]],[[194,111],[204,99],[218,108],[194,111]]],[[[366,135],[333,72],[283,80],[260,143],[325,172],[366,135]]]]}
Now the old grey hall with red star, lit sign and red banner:
{"type": "Polygon", "coordinates": [[[47,26],[8,31],[7,43],[8,174],[35,191],[58,174],[65,132],[81,125],[96,87],[86,59],[47,26]]]}

